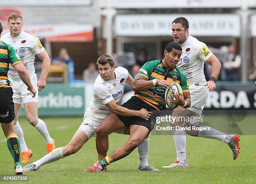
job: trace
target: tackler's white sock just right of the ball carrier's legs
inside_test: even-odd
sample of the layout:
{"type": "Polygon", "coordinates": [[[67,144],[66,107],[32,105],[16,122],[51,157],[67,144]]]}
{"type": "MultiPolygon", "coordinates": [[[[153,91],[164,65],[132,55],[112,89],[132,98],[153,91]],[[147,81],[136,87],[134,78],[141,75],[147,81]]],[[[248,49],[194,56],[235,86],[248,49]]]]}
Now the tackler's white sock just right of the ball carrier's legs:
{"type": "Polygon", "coordinates": [[[148,151],[149,151],[149,137],[144,139],[138,146],[139,164],[141,166],[148,166],[148,151]]]}

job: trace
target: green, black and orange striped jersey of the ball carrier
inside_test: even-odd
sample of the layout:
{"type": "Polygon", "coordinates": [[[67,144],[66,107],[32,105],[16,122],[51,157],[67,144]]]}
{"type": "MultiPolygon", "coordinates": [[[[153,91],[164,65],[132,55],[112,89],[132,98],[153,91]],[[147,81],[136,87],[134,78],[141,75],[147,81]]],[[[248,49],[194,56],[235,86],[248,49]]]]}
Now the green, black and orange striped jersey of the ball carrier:
{"type": "MultiPolygon", "coordinates": [[[[178,83],[182,87],[183,92],[189,91],[188,80],[185,74],[177,66],[166,70],[162,60],[148,61],[141,67],[137,75],[148,78],[148,81],[157,78],[166,80],[169,83],[178,83]]],[[[134,95],[157,110],[164,110],[166,109],[164,100],[165,90],[166,88],[163,86],[154,86],[146,91],[135,92],[134,95]]]]}

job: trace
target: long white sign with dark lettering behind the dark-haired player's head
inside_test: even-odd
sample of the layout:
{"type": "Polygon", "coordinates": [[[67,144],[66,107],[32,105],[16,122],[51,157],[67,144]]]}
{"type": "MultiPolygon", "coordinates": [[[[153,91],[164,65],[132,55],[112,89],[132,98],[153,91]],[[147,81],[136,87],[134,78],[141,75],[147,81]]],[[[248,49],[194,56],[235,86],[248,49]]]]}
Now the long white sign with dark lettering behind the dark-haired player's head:
{"type": "Polygon", "coordinates": [[[115,34],[118,36],[169,36],[172,21],[183,16],[189,21],[193,36],[239,36],[241,20],[235,14],[143,14],[117,15],[115,34]]]}

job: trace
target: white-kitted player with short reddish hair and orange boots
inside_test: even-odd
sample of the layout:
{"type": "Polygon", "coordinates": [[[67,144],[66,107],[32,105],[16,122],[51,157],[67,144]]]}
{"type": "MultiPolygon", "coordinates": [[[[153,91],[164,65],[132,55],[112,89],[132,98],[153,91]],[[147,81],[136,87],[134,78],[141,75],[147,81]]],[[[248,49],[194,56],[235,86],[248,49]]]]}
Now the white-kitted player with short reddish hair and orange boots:
{"type": "Polygon", "coordinates": [[[18,76],[18,72],[11,65],[9,66],[8,77],[10,80],[10,85],[13,88],[13,102],[15,108],[15,119],[14,119],[14,129],[20,140],[21,149],[21,160],[22,163],[27,163],[28,159],[32,155],[32,151],[28,149],[25,139],[23,137],[23,130],[18,122],[18,117],[20,113],[20,107],[23,103],[26,118],[28,122],[34,126],[40,134],[44,137],[46,142],[47,152],[51,152],[55,145],[54,140],[51,139],[49,132],[47,130],[46,124],[43,120],[38,118],[38,91],[41,91],[46,85],[46,76],[49,71],[51,60],[43,45],[40,43],[39,38],[36,38],[22,30],[23,20],[19,14],[12,13],[8,18],[8,27],[10,32],[3,35],[1,38],[5,43],[13,46],[21,60],[23,65],[27,68],[29,76],[33,87],[36,89],[37,94],[35,98],[32,98],[33,94],[28,91],[27,86],[21,81],[18,76]],[[35,73],[35,54],[43,60],[41,76],[37,81],[35,73]]]}

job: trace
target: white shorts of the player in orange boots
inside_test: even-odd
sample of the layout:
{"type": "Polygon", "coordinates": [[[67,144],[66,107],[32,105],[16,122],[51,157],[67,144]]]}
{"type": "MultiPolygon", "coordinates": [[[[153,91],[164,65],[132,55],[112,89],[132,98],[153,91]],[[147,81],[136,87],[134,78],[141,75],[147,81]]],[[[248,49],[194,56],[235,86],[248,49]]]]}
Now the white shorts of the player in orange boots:
{"type": "Polygon", "coordinates": [[[28,91],[28,87],[26,86],[21,79],[12,79],[9,78],[10,85],[13,88],[13,103],[27,103],[27,102],[36,102],[38,103],[38,88],[37,88],[37,77],[36,73],[30,76],[31,83],[33,88],[36,89],[36,96],[32,98],[33,93],[28,91]]]}

